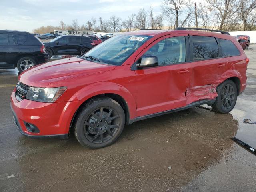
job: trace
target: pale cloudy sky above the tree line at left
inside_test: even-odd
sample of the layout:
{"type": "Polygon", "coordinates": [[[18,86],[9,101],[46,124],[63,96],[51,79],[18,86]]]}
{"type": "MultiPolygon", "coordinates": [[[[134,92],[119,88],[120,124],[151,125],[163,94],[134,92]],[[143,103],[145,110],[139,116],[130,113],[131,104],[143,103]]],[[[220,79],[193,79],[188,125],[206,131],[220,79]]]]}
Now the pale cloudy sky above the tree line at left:
{"type": "Polygon", "coordinates": [[[60,20],[85,24],[92,17],[107,20],[136,14],[140,8],[153,7],[154,15],[162,12],[161,0],[0,0],[0,29],[32,32],[40,26],[59,26],[60,20]]]}

